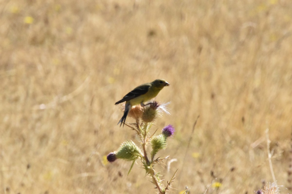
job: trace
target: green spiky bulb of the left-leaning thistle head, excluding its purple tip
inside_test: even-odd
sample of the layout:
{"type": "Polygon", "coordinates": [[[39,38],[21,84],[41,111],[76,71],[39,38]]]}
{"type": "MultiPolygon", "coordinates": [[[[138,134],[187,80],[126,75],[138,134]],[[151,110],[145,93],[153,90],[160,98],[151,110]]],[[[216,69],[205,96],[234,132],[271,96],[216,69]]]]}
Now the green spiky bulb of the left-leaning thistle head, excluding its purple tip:
{"type": "Polygon", "coordinates": [[[133,141],[126,141],[122,143],[116,152],[116,157],[127,161],[134,161],[141,157],[142,152],[133,141]]]}

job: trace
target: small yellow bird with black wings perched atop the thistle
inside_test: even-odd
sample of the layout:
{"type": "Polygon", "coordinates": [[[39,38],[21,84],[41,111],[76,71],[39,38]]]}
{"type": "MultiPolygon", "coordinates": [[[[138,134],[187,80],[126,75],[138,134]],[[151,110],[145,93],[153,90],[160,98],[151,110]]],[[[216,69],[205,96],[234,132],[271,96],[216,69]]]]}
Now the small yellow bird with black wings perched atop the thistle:
{"type": "Polygon", "coordinates": [[[132,106],[137,104],[140,104],[141,106],[146,106],[150,104],[144,104],[144,102],[147,102],[156,97],[160,90],[165,86],[170,86],[170,84],[167,83],[164,79],[156,79],[150,83],[144,83],[136,87],[131,92],[126,94],[121,100],[116,102],[115,104],[119,104],[126,101],[124,115],[118,122],[118,124],[121,123],[120,127],[122,126],[122,123],[125,124],[127,115],[132,106]]]}

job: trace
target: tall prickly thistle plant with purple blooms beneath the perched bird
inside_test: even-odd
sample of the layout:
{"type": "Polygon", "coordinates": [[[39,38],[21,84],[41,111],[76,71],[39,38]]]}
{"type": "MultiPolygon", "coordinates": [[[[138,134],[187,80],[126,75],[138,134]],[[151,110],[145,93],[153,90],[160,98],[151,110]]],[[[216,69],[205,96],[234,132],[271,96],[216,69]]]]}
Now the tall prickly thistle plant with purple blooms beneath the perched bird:
{"type": "Polygon", "coordinates": [[[135,119],[135,123],[125,125],[137,133],[140,139],[140,145],[136,145],[133,141],[127,140],[122,143],[116,151],[110,152],[107,155],[107,160],[109,162],[114,162],[117,159],[132,161],[128,174],[131,172],[136,160],[140,159],[146,174],[152,179],[152,183],[155,185],[155,188],[158,189],[159,194],[165,194],[167,191],[170,191],[170,185],[175,178],[176,172],[173,177],[167,181],[167,185],[164,186],[161,175],[154,170],[154,166],[155,164],[163,163],[168,157],[156,158],[155,156],[159,150],[166,148],[166,141],[168,137],[173,136],[175,129],[172,125],[167,125],[162,129],[161,133],[156,134],[156,130],[153,134],[150,134],[150,128],[153,126],[153,122],[161,117],[163,113],[169,114],[166,109],[166,105],[168,104],[169,103],[159,104],[154,101],[151,102],[150,105],[144,107],[140,105],[133,106],[128,115],[135,119]],[[149,149],[147,149],[147,147],[149,149]]]}

